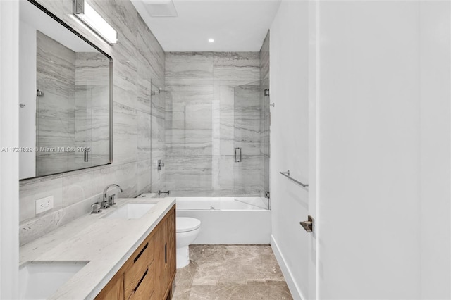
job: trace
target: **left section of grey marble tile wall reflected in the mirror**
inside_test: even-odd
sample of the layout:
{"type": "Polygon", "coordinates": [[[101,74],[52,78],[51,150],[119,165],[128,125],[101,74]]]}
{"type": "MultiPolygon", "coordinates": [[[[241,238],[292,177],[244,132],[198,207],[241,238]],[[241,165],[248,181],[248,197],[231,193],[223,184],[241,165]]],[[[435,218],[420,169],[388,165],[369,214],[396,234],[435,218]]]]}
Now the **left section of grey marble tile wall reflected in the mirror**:
{"type": "MultiPolygon", "coordinates": [[[[37,148],[73,146],[75,140],[75,52],[42,32],[36,32],[37,148]],[[52,51],[50,51],[52,49],[52,51]]],[[[37,175],[73,168],[75,153],[37,151],[37,175]]]]}

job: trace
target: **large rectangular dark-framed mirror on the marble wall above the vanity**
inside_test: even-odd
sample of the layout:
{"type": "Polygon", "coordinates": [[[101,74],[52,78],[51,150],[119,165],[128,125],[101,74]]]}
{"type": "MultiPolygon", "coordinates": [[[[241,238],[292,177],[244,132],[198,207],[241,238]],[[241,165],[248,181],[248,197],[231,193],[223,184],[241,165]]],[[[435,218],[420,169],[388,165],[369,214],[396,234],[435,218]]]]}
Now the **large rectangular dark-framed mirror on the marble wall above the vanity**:
{"type": "Polygon", "coordinates": [[[35,1],[19,49],[20,179],[111,163],[111,57],[35,1]]]}

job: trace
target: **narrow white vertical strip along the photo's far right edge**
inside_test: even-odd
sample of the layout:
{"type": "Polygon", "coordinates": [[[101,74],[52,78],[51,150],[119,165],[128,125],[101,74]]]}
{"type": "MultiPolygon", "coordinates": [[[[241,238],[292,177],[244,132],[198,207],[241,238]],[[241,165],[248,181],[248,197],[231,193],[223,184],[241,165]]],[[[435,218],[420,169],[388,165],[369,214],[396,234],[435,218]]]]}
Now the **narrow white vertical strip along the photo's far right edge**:
{"type": "Polygon", "coordinates": [[[419,8],[421,299],[451,299],[451,4],[419,8]]]}

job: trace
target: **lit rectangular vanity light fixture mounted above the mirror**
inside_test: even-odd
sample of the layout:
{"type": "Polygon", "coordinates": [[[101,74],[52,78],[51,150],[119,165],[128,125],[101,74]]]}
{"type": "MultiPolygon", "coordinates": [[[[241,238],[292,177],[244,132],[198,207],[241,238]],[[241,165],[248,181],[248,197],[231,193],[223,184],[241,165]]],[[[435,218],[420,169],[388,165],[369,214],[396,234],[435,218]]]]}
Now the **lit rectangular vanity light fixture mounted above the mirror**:
{"type": "Polygon", "coordinates": [[[85,0],[73,0],[73,14],[109,44],[117,44],[118,32],[85,0]]]}

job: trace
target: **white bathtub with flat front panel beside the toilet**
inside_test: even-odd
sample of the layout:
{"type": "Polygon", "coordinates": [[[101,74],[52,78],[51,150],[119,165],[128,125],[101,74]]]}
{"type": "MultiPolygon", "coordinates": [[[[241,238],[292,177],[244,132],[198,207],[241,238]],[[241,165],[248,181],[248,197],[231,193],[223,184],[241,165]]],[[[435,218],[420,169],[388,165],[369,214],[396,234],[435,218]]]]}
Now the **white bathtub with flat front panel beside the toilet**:
{"type": "Polygon", "coordinates": [[[193,244],[269,244],[271,211],[264,209],[266,201],[257,197],[175,197],[178,217],[201,221],[193,244]]]}

